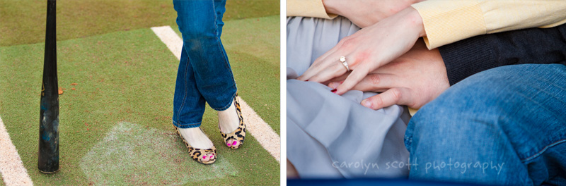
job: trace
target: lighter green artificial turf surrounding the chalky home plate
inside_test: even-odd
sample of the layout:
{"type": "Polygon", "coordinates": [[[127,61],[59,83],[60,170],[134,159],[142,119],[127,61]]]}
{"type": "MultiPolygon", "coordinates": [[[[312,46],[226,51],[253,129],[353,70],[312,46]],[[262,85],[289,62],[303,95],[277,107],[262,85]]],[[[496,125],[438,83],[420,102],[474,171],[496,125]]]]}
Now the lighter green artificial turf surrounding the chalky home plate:
{"type": "MultiPolygon", "coordinates": [[[[279,17],[226,21],[222,39],[241,97],[279,133],[279,17]]],[[[188,157],[171,125],[178,59],[149,28],[57,42],[61,169],[39,173],[44,47],[0,47],[0,117],[36,185],[279,184],[279,163],[252,135],[242,149],[222,145],[208,106],[202,128],[219,162],[203,166],[188,157]]]]}

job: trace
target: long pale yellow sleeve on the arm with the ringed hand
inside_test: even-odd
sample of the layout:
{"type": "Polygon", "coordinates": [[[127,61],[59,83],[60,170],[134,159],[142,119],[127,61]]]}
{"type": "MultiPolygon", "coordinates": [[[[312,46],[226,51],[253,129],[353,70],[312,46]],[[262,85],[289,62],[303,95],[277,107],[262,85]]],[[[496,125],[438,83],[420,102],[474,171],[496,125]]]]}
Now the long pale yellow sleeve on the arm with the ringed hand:
{"type": "Polygon", "coordinates": [[[429,49],[476,35],[566,23],[566,1],[429,0],[412,4],[429,49]]]}

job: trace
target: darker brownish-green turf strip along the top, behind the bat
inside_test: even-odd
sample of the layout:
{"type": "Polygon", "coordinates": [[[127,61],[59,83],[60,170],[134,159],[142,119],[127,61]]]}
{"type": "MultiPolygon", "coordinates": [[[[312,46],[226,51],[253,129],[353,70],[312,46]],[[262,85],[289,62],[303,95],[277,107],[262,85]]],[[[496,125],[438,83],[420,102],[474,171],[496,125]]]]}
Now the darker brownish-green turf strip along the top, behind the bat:
{"type": "MultiPolygon", "coordinates": [[[[0,46],[45,41],[45,0],[0,1],[0,46]]],[[[224,20],[279,15],[279,0],[228,0],[224,20]]],[[[57,39],[175,25],[172,0],[57,1],[57,39]]]]}

